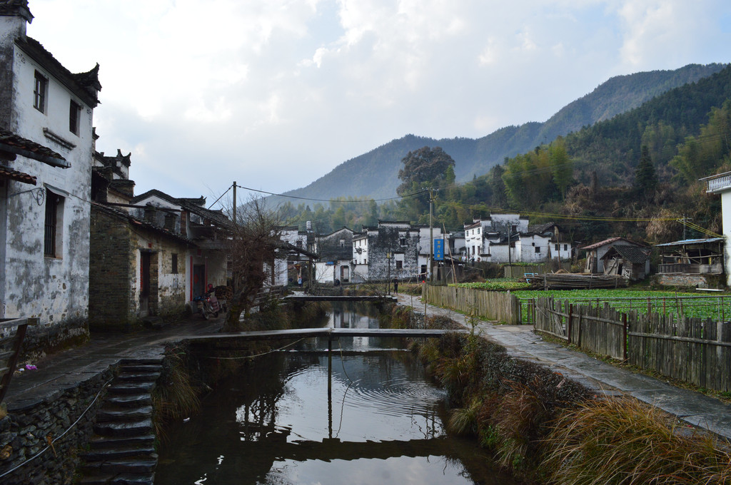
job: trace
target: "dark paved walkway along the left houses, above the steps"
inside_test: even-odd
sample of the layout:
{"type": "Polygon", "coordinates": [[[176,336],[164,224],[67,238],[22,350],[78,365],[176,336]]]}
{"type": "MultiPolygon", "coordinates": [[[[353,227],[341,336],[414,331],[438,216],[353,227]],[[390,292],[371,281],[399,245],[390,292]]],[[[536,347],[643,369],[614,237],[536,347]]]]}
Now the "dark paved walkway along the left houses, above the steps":
{"type": "Polygon", "coordinates": [[[194,315],[186,320],[165,326],[159,330],[141,330],[134,334],[91,335],[86,345],[58,352],[38,362],[37,370],[15,373],[4,402],[7,409],[23,410],[47,399],[53,399],[72,389],[78,383],[94,378],[121,359],[148,359],[161,357],[164,343],[185,337],[211,335],[218,332],[223,316],[204,320],[194,315]]]}

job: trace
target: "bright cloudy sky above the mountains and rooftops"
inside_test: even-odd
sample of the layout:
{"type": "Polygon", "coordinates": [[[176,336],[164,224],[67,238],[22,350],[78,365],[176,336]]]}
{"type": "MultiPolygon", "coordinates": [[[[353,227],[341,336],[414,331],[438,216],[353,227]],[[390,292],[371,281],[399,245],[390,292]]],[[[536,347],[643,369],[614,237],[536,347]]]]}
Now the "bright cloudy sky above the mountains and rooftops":
{"type": "Polygon", "coordinates": [[[609,77],[731,61],[728,0],[30,0],[101,64],[97,149],[141,194],[281,192],[404,134],[545,121],[609,77]]]}

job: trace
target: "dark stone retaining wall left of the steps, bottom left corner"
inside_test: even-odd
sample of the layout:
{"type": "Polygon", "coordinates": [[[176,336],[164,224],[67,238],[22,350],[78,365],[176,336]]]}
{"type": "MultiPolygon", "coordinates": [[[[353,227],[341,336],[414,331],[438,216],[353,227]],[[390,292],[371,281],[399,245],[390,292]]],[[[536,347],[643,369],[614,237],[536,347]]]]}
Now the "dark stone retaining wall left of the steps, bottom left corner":
{"type": "Polygon", "coordinates": [[[93,434],[96,410],[105,392],[96,402],[94,398],[113,374],[114,367],[109,367],[71,389],[51,392],[41,401],[14,402],[7,416],[0,419],[0,484],[72,483],[78,454],[93,434]],[[31,459],[48,446],[49,438],[53,447],[31,459]]]}

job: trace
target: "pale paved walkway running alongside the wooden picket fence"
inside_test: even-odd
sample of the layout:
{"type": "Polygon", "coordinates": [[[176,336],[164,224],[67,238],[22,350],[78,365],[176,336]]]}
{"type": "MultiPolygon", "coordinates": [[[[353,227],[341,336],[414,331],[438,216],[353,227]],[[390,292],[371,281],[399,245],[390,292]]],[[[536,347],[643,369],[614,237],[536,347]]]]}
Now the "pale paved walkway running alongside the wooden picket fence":
{"type": "MultiPolygon", "coordinates": [[[[420,297],[399,294],[398,304],[413,305],[418,312],[424,311],[420,297]]],[[[448,316],[470,328],[466,317],[453,310],[426,305],[426,313],[428,316],[448,316]]],[[[532,325],[493,325],[480,321],[477,332],[505,347],[511,356],[545,365],[596,392],[636,397],[731,442],[731,405],[547,342],[533,333],[532,325]]]]}

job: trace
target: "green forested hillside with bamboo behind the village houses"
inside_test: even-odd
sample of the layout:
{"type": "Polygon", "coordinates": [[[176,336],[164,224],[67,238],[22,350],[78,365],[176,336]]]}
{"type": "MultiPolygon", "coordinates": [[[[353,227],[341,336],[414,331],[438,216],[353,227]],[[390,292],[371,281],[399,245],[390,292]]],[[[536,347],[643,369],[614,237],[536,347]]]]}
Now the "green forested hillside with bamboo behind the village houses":
{"type": "Polygon", "coordinates": [[[555,221],[583,242],[615,235],[668,242],[683,234],[720,233],[719,196],[705,194],[698,179],[731,170],[731,67],[506,159],[466,183],[455,183],[457,152],[442,148],[455,167],[436,178],[402,173],[398,181],[409,185],[402,187],[401,200],[340,199],[332,207],[287,203],[284,215],[292,222],[314,221],[324,232],[360,229],[379,218],[424,224],[423,189],[436,188],[435,224],[447,229],[509,210],[529,215],[532,223],[555,221]],[[681,218],[692,222],[683,228],[681,218]]]}

